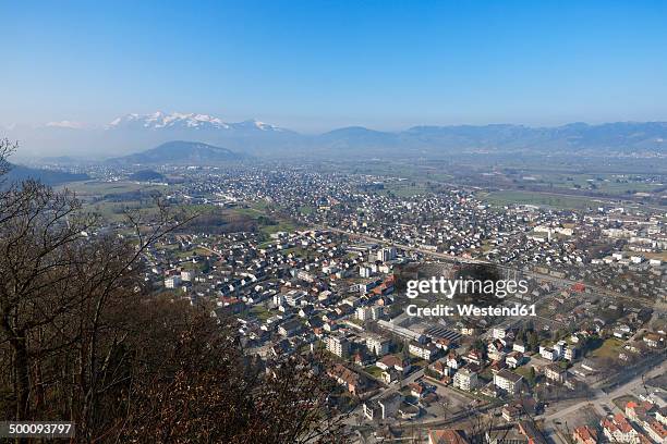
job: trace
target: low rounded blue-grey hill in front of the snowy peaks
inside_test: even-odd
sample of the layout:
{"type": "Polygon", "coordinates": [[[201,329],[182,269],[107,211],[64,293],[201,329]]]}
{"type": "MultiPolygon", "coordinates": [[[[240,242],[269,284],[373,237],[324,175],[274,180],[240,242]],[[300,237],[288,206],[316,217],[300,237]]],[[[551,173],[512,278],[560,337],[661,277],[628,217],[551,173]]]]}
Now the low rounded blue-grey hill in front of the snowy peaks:
{"type": "Polygon", "coordinates": [[[124,164],[203,164],[239,161],[245,157],[246,156],[237,153],[227,148],[220,148],[199,141],[173,140],[146,151],[110,159],[109,162],[124,164]]]}

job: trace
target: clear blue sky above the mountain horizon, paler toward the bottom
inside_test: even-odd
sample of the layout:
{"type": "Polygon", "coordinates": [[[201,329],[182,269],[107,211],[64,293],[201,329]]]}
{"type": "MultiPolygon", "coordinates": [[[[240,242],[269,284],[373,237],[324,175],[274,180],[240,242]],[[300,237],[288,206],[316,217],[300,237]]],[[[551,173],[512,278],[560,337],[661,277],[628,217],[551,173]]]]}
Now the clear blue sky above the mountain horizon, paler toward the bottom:
{"type": "Polygon", "coordinates": [[[667,120],[664,1],[0,3],[0,124],[667,120]]]}

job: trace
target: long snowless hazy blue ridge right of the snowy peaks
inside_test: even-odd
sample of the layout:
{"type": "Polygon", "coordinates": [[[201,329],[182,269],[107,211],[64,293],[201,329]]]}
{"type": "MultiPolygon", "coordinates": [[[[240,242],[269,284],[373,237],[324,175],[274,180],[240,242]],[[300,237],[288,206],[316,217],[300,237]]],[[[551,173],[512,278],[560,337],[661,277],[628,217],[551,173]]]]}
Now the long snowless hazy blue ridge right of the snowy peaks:
{"type": "Polygon", "coordinates": [[[523,125],[414,126],[390,133],[364,127],[336,130],[318,136],[318,145],[337,150],[364,149],[376,153],[452,152],[613,152],[667,153],[667,123],[574,123],[557,127],[523,125]]]}

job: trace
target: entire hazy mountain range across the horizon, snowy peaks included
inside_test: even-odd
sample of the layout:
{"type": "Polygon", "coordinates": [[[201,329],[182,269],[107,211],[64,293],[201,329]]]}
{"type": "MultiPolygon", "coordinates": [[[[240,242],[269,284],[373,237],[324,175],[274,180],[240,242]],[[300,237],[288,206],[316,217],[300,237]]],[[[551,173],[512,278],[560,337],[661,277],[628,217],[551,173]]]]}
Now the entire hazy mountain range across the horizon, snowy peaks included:
{"type": "Polygon", "coordinates": [[[118,152],[128,155],[172,140],[197,140],[237,153],[271,157],[405,157],[462,152],[658,153],[667,155],[667,123],[572,123],[556,127],[524,125],[414,126],[381,132],[362,126],[304,135],[258,121],[240,123],[196,113],[128,114],[104,127],[50,122],[21,134],[7,134],[32,151],[53,155],[118,152]],[[44,148],[44,150],[41,149],[44,148]]]}

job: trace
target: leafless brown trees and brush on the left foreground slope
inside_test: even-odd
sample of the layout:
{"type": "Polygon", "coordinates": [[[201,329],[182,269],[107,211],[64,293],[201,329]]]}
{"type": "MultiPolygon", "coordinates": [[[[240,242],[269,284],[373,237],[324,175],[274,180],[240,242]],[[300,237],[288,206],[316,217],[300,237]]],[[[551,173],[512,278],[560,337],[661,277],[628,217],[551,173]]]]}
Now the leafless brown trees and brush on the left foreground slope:
{"type": "Polygon", "coordinates": [[[72,420],[83,442],[344,440],[318,359],[267,369],[210,308],[145,286],[144,251],[193,217],[157,207],[129,212],[123,238],[66,190],[27,181],[0,194],[3,417],[72,420]]]}

